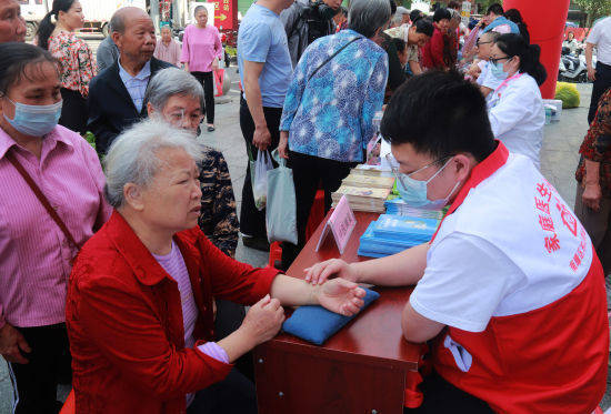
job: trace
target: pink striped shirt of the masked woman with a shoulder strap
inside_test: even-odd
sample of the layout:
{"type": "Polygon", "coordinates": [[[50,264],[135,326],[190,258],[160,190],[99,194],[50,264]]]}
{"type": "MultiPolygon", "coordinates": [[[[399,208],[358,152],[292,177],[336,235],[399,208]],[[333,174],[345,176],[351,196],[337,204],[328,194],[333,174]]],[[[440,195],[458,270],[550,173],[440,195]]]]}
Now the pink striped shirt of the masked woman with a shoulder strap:
{"type": "Polygon", "coordinates": [[[66,321],[70,260],[77,253],[4,156],[8,151],[44,193],[79,245],[110,216],[104,175],[91,145],[61,125],[42,139],[40,160],[0,129],[0,326],[66,321]]]}

